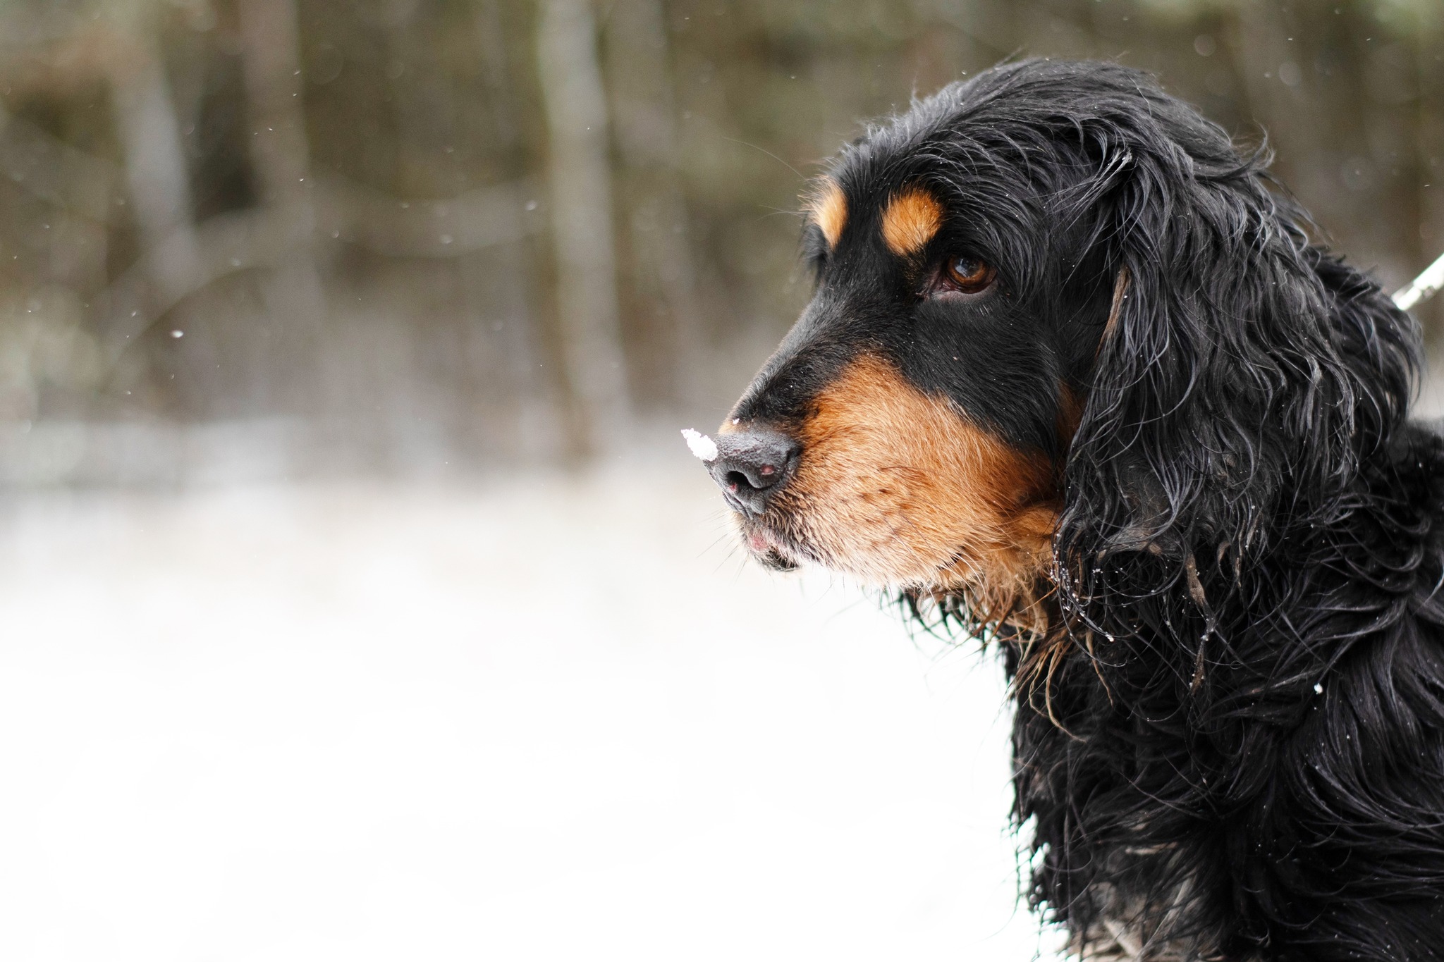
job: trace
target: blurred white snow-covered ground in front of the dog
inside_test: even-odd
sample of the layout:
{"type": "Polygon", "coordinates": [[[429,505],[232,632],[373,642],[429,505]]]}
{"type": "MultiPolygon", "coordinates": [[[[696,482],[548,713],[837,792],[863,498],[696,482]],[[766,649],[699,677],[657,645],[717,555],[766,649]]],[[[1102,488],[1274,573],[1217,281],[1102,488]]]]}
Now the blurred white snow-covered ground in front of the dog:
{"type": "Polygon", "coordinates": [[[0,959],[1025,961],[1001,669],[682,446],[12,496],[0,959]]]}

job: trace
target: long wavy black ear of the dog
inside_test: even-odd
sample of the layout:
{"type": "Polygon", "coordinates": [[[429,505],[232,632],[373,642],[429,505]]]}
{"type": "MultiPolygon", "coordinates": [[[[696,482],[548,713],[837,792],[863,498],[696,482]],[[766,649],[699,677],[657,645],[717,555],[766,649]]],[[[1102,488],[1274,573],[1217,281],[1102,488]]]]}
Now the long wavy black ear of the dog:
{"type": "Polygon", "coordinates": [[[1404,417],[1418,336],[1310,247],[1258,160],[1116,134],[1074,192],[1087,209],[1060,212],[1113,281],[1064,467],[1060,590],[1082,612],[1181,588],[1207,614],[1337,506],[1404,417]]]}

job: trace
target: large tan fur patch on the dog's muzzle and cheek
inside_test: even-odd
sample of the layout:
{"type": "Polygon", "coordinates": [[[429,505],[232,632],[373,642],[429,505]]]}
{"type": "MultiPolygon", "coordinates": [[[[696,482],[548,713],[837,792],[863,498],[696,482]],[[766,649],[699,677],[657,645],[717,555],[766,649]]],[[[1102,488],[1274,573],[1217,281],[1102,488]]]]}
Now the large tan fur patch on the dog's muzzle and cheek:
{"type": "Polygon", "coordinates": [[[801,425],[777,508],[822,560],[872,584],[969,587],[1005,603],[1050,558],[1047,467],[865,356],[801,425]]]}

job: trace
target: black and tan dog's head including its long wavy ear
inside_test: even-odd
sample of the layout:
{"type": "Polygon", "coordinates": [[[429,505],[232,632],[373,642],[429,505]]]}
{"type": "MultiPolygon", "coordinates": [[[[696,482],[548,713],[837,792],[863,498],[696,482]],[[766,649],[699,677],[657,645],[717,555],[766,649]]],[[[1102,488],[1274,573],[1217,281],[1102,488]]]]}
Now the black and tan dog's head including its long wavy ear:
{"type": "Polygon", "coordinates": [[[1121,558],[1201,591],[1404,414],[1408,322],[1136,71],[947,87],[806,209],[816,294],[710,462],[768,565],[985,619],[1096,593],[1121,558]]]}

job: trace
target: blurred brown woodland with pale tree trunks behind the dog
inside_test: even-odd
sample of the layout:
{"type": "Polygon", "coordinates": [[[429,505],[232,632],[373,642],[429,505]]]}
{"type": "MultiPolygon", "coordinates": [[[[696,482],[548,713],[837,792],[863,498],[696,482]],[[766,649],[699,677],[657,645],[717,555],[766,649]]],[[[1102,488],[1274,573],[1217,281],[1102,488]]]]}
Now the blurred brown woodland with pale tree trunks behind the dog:
{"type": "Polygon", "coordinates": [[[0,483],[670,443],[806,300],[804,177],[1012,55],[1266,130],[1392,290],[1444,250],[1441,42],[1440,0],[0,0],[0,483]]]}

